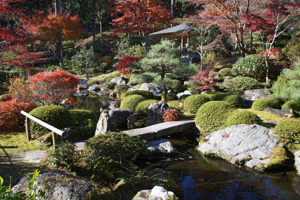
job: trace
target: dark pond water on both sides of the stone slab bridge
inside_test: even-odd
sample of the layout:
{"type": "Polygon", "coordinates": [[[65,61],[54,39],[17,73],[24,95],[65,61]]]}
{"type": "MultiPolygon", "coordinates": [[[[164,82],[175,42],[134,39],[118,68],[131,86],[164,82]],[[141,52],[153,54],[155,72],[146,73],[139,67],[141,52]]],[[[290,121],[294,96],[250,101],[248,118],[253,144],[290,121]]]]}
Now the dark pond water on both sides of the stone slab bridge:
{"type": "MultiPolygon", "coordinates": [[[[101,98],[88,91],[89,96],[76,97],[77,108],[100,116],[101,98]]],[[[197,141],[182,134],[163,137],[178,150],[178,156],[139,157],[140,168],[163,168],[179,178],[185,200],[196,199],[300,199],[300,179],[293,162],[277,171],[260,172],[238,167],[223,159],[203,156],[197,152],[197,141]],[[152,166],[151,166],[152,165],[152,166]]]]}

